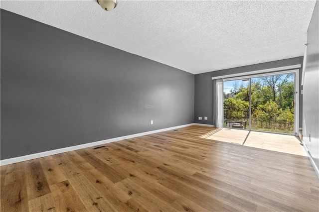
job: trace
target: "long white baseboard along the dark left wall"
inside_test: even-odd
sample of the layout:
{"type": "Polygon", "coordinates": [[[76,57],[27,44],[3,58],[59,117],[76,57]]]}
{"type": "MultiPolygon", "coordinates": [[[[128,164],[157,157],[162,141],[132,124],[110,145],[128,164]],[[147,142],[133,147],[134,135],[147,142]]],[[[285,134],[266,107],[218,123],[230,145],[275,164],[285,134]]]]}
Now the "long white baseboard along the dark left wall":
{"type": "Polygon", "coordinates": [[[87,148],[87,147],[97,146],[97,145],[101,145],[101,144],[111,143],[111,142],[115,142],[115,141],[125,140],[125,139],[129,139],[129,138],[139,137],[139,136],[143,136],[143,135],[148,135],[148,134],[163,132],[163,131],[167,131],[167,130],[177,129],[177,128],[181,128],[181,127],[191,126],[191,125],[197,125],[197,124],[195,124],[195,123],[184,124],[184,125],[173,126],[173,127],[168,127],[168,128],[158,129],[158,130],[153,130],[153,131],[148,131],[148,132],[141,132],[141,133],[137,133],[137,134],[133,134],[133,135],[126,135],[126,136],[117,137],[117,138],[110,138],[110,139],[106,139],[106,140],[80,144],[80,145],[76,145],[76,146],[69,146],[69,147],[65,147],[65,148],[61,148],[61,149],[54,149],[54,150],[50,150],[50,151],[39,152],[39,153],[31,154],[31,155],[24,155],[24,156],[15,157],[15,158],[8,158],[8,159],[0,160],[0,166],[12,164],[12,163],[18,163],[18,162],[22,162],[22,161],[26,161],[26,160],[32,160],[32,159],[41,158],[41,157],[46,157],[46,156],[50,156],[50,155],[60,154],[63,152],[69,152],[69,151],[73,151],[73,150],[77,150],[77,149],[83,149],[83,148],[87,148]]]}

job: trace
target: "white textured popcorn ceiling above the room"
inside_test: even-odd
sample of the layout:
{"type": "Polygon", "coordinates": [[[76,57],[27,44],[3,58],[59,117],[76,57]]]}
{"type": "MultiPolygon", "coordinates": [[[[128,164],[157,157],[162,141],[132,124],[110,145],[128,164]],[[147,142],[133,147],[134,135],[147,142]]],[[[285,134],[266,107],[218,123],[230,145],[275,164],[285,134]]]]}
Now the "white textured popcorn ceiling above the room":
{"type": "Polygon", "coordinates": [[[315,0],[1,0],[1,8],[193,74],[302,56],[315,0]]]}

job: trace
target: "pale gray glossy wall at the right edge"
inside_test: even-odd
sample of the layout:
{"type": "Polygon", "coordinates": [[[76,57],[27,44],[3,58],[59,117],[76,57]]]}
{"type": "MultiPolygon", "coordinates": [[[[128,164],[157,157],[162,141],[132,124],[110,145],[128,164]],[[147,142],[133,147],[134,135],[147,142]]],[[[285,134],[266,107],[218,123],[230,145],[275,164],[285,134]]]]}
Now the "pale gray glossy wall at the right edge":
{"type": "Polygon", "coordinates": [[[319,168],[319,2],[308,28],[304,81],[304,142],[319,168]]]}

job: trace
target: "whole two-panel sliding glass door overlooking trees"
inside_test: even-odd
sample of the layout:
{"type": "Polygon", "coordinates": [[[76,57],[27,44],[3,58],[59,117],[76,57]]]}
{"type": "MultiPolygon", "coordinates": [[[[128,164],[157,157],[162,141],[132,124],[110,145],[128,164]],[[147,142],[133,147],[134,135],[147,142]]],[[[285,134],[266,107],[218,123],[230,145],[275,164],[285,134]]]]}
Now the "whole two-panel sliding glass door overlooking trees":
{"type": "Polygon", "coordinates": [[[224,79],[224,127],[293,134],[295,73],[224,79]]]}

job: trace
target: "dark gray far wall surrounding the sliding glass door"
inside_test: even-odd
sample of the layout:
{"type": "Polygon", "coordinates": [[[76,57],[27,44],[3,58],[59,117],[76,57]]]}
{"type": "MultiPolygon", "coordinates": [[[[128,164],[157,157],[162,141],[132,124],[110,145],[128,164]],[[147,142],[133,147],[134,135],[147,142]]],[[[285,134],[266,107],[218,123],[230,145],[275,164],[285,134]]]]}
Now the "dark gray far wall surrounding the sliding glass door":
{"type": "MultiPolygon", "coordinates": [[[[212,77],[237,74],[249,71],[257,71],[262,69],[277,68],[282,66],[290,65],[303,65],[304,57],[296,57],[285,60],[277,60],[268,63],[260,63],[249,66],[242,66],[232,69],[225,69],[220,71],[213,71],[203,74],[195,75],[195,123],[204,123],[204,124],[213,124],[213,82],[212,77]],[[198,116],[207,116],[208,120],[198,120],[198,116]]],[[[301,82],[301,70],[300,69],[300,82],[301,82]]],[[[300,86],[301,90],[301,86],[300,86]]],[[[300,127],[302,127],[302,106],[303,106],[303,97],[301,92],[299,92],[299,108],[300,108],[300,127]]],[[[204,119],[204,118],[203,118],[204,119]]]]}

